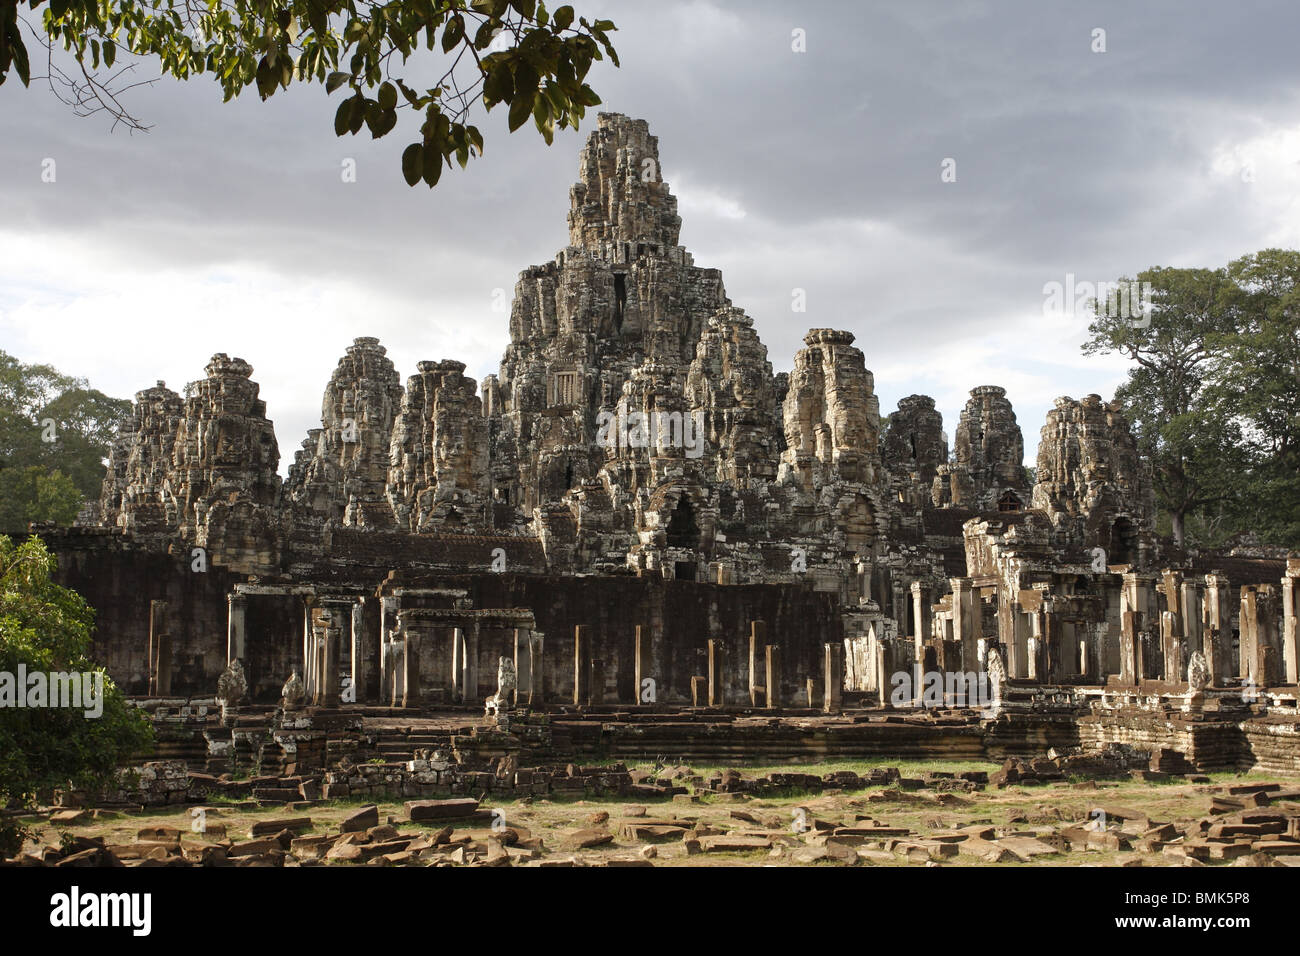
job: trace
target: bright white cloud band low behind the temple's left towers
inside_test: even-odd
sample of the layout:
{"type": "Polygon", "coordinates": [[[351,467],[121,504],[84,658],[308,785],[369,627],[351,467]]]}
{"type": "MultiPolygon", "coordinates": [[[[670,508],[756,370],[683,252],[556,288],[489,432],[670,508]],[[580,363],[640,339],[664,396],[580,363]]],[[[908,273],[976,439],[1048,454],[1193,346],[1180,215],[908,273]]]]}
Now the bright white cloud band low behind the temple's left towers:
{"type": "Polygon", "coordinates": [[[318,427],[325,382],[355,337],[377,336],[403,381],[421,359],[494,368],[504,345],[507,316],[473,289],[442,299],[441,315],[430,315],[419,300],[346,274],[304,281],[243,263],[159,268],[73,239],[57,248],[51,258],[0,233],[8,351],[116,395],[156,380],[182,392],[213,354],[244,358],[276,423],[281,471],[307,429],[318,427]]]}

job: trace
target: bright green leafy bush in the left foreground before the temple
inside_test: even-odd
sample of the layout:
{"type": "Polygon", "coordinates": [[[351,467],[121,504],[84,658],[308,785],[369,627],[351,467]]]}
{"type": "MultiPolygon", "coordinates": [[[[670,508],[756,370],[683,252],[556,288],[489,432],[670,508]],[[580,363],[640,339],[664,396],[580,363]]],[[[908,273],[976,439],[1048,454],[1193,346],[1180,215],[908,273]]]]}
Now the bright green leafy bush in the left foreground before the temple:
{"type": "MultiPolygon", "coordinates": [[[[55,558],[39,538],[0,536],[0,674],[88,672],[94,611],[51,580],[55,558]]],[[[101,671],[100,671],[101,672],[101,671]]],[[[26,688],[17,688],[18,692],[26,688]]],[[[103,711],[0,706],[0,805],[26,808],[56,787],[96,790],[150,747],[147,715],[127,705],[103,675],[103,711]]],[[[13,817],[0,818],[0,855],[23,839],[13,817]]]]}

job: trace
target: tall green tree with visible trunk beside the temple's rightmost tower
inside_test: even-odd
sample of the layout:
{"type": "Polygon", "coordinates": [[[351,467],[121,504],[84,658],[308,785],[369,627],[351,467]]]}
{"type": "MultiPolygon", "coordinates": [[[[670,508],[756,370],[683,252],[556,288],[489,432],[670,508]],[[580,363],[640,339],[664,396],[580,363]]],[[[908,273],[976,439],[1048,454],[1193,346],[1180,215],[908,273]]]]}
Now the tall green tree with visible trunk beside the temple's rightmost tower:
{"type": "Polygon", "coordinates": [[[1150,284],[1149,321],[1098,300],[1083,351],[1132,360],[1115,399],[1128,408],[1157,503],[1182,546],[1188,516],[1231,497],[1244,467],[1240,424],[1208,388],[1236,332],[1243,294],[1226,269],[1156,267],[1138,282],[1150,284]]]}

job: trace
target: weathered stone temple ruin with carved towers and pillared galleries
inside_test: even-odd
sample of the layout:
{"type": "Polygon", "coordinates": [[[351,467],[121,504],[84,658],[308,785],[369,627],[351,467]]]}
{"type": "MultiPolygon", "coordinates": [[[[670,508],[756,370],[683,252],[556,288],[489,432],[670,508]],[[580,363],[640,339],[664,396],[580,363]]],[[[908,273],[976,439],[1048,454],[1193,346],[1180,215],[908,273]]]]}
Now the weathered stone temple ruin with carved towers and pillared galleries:
{"type": "Polygon", "coordinates": [[[1162,542],[1121,407],[1057,399],[1031,480],[1001,388],[949,445],[926,395],[883,424],[850,332],[774,373],[679,245],[642,121],[601,114],[568,225],[498,375],[403,384],[356,338],[283,481],[242,359],[136,394],[95,514],[42,535],[168,754],[1128,745],[1300,773],[1300,558],[1162,542]]]}

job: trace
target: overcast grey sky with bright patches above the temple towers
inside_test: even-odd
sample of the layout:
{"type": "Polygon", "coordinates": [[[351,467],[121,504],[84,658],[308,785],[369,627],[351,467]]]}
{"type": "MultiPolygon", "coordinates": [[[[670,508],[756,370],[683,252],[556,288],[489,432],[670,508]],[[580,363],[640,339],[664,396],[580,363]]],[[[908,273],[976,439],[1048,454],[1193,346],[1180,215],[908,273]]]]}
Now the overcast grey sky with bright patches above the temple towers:
{"type": "MultiPolygon", "coordinates": [[[[775,369],[809,328],[849,329],[881,414],[930,394],[950,436],[971,388],[1002,385],[1031,464],[1057,395],[1123,377],[1080,354],[1082,311],[1045,313],[1045,284],[1300,247],[1292,0],[575,7],[618,23],[621,69],[589,78],[601,109],[649,121],[682,245],[723,271],[775,369]]],[[[211,77],[164,79],[130,94],[152,131],[127,135],[10,78],[0,349],[124,397],[239,355],[281,471],[356,336],[403,381],[421,359],[495,372],[494,293],[567,245],[594,111],[547,147],[497,109],[486,155],[430,191],[400,176],[412,127],[334,135],[341,95],[222,104],[211,77]]]]}

